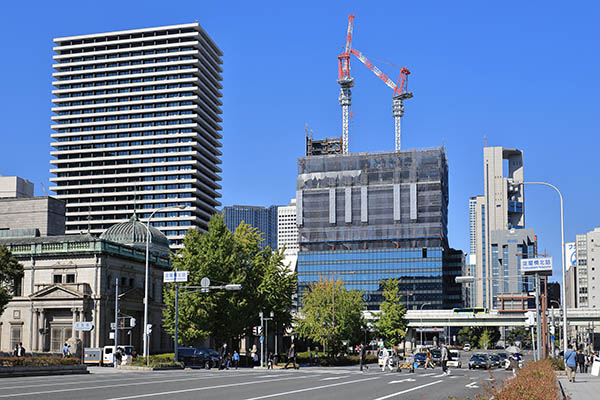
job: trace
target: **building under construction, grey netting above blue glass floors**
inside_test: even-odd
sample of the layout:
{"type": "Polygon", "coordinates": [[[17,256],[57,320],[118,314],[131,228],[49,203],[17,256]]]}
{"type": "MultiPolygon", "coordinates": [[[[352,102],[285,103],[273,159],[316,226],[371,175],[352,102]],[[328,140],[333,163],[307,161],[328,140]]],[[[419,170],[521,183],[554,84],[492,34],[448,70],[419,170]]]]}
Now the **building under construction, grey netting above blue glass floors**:
{"type": "Polygon", "coordinates": [[[335,277],[377,310],[381,281],[397,278],[410,309],[461,306],[450,278],[464,261],[448,246],[444,148],[301,157],[296,182],[300,297],[335,277]]]}

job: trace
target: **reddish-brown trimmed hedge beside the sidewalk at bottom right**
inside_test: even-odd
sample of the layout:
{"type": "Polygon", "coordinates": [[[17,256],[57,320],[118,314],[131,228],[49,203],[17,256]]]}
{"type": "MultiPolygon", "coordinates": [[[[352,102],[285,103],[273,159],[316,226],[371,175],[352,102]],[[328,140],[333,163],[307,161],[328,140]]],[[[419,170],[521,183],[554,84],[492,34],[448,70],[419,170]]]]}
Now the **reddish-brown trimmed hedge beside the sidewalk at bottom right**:
{"type": "Polygon", "coordinates": [[[495,400],[559,400],[558,382],[550,360],[529,362],[511,380],[504,380],[502,386],[487,388],[487,395],[479,399],[495,400]]]}

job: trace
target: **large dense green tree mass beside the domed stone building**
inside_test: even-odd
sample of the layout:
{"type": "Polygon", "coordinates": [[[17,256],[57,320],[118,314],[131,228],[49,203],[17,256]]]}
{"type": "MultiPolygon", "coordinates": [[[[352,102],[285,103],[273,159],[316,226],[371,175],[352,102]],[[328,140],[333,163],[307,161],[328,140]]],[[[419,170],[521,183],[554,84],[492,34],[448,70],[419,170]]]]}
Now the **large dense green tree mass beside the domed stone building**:
{"type": "MultiPolygon", "coordinates": [[[[179,294],[179,340],[193,345],[212,336],[217,342],[239,338],[259,325],[259,311],[273,311],[270,328],[281,331],[291,324],[292,295],[296,275],[282,265],[283,254],[269,247],[262,249],[261,234],[241,223],[235,234],[225,225],[223,216],[215,215],[208,232],[190,230],[184,248],[173,257],[173,266],[189,271],[189,286],[200,286],[208,277],[212,285],[241,284],[240,291],[213,290],[208,293],[179,294]]],[[[163,326],[173,335],[175,330],[175,289],[164,291],[163,326]]]]}

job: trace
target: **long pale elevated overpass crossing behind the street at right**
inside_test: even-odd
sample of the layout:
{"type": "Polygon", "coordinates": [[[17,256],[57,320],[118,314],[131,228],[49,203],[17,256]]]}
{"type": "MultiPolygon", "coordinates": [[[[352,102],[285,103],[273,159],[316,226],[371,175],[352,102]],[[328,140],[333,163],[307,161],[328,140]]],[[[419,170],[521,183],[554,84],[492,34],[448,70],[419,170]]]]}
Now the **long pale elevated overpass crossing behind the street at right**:
{"type": "MultiPolygon", "coordinates": [[[[548,310],[548,315],[552,315],[548,310]]],[[[559,309],[554,313],[555,321],[560,324],[559,309]]],[[[490,310],[480,314],[455,314],[452,310],[408,310],[406,320],[409,328],[433,328],[445,326],[526,326],[527,320],[523,312],[503,312],[490,310]]],[[[569,326],[600,326],[600,310],[569,308],[567,309],[569,326]]]]}

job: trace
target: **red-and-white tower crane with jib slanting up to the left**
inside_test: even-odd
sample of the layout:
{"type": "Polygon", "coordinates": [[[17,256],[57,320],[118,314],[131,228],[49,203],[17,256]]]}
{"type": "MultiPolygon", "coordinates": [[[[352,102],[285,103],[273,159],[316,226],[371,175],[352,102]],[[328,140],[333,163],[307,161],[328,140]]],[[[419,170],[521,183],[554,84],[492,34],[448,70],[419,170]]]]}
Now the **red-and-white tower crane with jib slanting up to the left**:
{"type": "Polygon", "coordinates": [[[407,91],[408,75],[410,75],[410,71],[406,67],[401,68],[398,82],[394,83],[394,81],[392,81],[386,74],[377,68],[371,61],[369,61],[363,53],[356,49],[350,49],[350,52],[354,54],[363,64],[369,67],[369,69],[373,71],[375,75],[377,75],[386,85],[394,90],[392,116],[394,117],[395,149],[396,151],[400,151],[402,137],[402,116],[404,115],[403,101],[413,97],[412,92],[407,91]]]}

